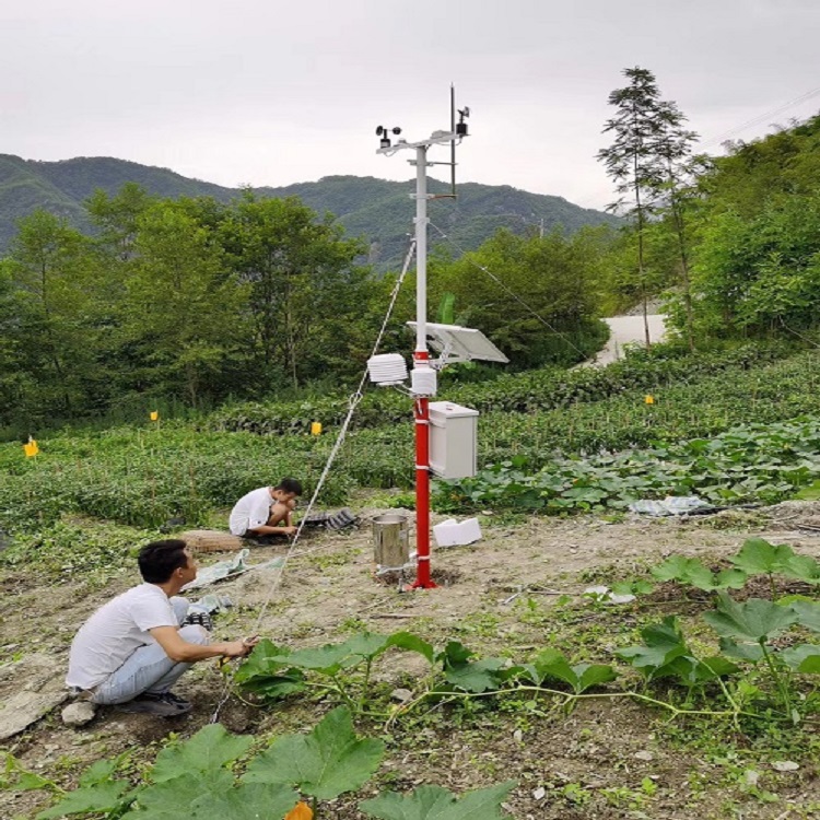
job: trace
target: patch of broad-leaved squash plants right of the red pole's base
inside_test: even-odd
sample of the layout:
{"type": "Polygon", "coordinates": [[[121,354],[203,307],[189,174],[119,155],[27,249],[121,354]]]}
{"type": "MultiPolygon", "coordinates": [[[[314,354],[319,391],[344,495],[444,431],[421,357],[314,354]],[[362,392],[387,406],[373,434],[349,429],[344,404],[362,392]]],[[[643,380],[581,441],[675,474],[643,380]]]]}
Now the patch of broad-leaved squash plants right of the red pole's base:
{"type": "Polygon", "coordinates": [[[735,427],[643,450],[555,458],[531,469],[523,456],[473,478],[436,483],[446,512],[544,513],[624,509],[640,499],[698,495],[713,504],[774,503],[820,477],[820,417],[735,427]]]}

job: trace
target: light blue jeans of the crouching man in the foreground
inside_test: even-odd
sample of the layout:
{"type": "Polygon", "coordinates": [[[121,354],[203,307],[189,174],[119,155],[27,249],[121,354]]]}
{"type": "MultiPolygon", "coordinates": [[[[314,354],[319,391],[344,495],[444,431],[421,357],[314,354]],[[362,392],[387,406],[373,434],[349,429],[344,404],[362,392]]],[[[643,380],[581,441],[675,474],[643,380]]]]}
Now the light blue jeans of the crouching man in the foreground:
{"type": "MultiPolygon", "coordinates": [[[[188,613],[189,604],[185,598],[171,598],[177,622],[181,623],[188,613]]],[[[195,624],[183,626],[179,637],[189,644],[207,646],[210,634],[202,626],[195,624]]],[[[126,703],[143,692],[162,694],[167,692],[179,678],[188,671],[190,664],[172,660],[156,641],[141,646],[122,666],[94,689],[91,701],[102,705],[126,703]]]]}

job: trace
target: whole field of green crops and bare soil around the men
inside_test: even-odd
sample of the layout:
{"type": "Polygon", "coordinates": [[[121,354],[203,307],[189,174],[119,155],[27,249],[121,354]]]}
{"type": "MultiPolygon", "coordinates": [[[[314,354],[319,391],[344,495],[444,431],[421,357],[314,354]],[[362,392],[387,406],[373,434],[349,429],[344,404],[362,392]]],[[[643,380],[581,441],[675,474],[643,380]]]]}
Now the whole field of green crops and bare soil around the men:
{"type": "MultiPolygon", "coordinates": [[[[318,500],[359,526],[305,529],[281,575],[208,589],[234,605],[220,640],[262,635],[253,655],[196,665],[184,718],[69,728],[55,704],[0,741],[0,817],[817,816],[817,353],[749,348],[454,386],[482,410],[481,470],[436,482],[434,523],[476,515],[483,538],[436,550],[438,586],[415,593],[373,574],[372,518],[412,501],[412,425],[367,394],[318,500]],[[628,508],[690,494],[716,511],[628,508]]],[[[161,528],[224,529],[284,475],[312,492],[331,405],[1,445],[3,702],[59,689],[77,628],[161,528]]]]}

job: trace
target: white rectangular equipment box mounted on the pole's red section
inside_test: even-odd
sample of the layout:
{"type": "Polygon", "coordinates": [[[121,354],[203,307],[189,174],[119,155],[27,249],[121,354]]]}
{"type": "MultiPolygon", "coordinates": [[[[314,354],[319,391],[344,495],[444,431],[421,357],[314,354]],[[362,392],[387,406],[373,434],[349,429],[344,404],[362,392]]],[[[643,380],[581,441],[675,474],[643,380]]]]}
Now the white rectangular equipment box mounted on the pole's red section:
{"type": "Polygon", "coordinates": [[[476,475],[478,415],[452,401],[430,402],[430,468],[438,478],[476,475]]]}

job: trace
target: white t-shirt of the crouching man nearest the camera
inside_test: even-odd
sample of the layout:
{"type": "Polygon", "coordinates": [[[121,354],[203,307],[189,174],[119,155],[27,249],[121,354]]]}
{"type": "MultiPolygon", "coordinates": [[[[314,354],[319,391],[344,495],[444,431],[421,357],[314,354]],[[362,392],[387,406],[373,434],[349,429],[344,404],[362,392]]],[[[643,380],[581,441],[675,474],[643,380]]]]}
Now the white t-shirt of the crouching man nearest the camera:
{"type": "Polygon", "coordinates": [[[149,630],[178,626],[168,596],[156,584],[140,584],[97,609],[71,643],[66,683],[92,689],[107,680],[141,646],[149,630]]]}

